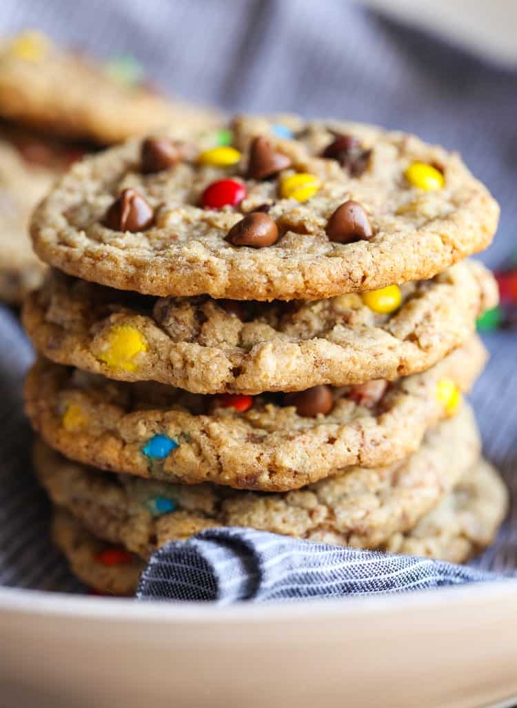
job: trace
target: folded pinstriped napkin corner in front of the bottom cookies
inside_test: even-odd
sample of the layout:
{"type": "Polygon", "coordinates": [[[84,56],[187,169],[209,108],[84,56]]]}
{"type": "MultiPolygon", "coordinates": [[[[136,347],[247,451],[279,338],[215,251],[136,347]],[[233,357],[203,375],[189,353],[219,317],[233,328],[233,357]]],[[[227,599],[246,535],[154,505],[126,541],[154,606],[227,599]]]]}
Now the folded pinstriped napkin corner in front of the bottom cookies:
{"type": "Polygon", "coordinates": [[[139,600],[335,598],[500,581],[505,576],[415,556],[340,548],[248,528],[206,530],[151,557],[139,600]]]}

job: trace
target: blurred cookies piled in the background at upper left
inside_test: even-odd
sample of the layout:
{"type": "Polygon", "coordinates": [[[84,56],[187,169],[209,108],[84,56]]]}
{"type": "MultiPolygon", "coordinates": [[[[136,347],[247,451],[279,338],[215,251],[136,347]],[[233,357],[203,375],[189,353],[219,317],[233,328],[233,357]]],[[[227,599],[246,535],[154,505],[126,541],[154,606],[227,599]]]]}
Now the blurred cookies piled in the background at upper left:
{"type": "MultiPolygon", "coordinates": [[[[158,125],[213,126],[216,114],[170,103],[129,57],[100,66],[37,32],[0,44],[0,299],[20,304],[44,266],[27,238],[31,210],[76,159],[158,125]]],[[[219,116],[217,116],[219,120],[219,116]]]]}

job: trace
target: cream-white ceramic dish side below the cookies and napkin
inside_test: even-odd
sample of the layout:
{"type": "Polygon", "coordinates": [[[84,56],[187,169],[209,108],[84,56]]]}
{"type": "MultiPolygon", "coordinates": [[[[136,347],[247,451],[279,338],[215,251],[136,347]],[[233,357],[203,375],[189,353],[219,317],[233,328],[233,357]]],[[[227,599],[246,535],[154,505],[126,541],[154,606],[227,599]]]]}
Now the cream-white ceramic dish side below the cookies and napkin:
{"type": "Polygon", "coordinates": [[[494,705],[517,696],[517,581],[223,608],[4,589],[0,686],[2,708],[494,705]]]}

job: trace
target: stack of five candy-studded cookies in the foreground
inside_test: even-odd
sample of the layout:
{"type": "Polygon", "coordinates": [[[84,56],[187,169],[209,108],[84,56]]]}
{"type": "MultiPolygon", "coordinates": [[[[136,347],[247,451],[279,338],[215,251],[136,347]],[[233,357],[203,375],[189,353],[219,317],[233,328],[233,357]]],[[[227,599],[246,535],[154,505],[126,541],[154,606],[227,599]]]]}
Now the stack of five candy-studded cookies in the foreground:
{"type": "Polygon", "coordinates": [[[358,124],[238,118],[71,168],[37,208],[25,387],[54,535],[100,590],[250,526],[463,561],[506,491],[463,392],[498,207],[458,155],[358,124]]]}

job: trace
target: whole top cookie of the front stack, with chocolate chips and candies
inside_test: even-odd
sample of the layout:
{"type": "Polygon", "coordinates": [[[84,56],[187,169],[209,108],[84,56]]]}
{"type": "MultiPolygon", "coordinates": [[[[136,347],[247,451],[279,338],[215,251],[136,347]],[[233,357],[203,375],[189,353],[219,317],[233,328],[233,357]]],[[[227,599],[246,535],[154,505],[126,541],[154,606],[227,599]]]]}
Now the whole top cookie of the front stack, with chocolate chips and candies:
{"type": "Polygon", "coordinates": [[[232,146],[178,137],[74,166],[33,217],[41,258],[148,295],[318,299],[431,278],[496,230],[460,157],[405,133],[240,119],[232,146]]]}

